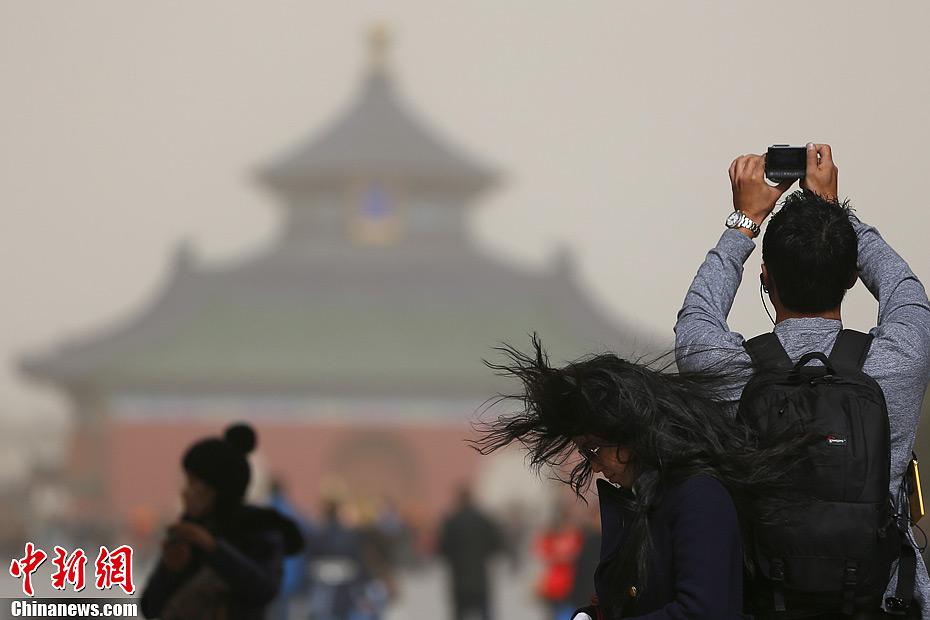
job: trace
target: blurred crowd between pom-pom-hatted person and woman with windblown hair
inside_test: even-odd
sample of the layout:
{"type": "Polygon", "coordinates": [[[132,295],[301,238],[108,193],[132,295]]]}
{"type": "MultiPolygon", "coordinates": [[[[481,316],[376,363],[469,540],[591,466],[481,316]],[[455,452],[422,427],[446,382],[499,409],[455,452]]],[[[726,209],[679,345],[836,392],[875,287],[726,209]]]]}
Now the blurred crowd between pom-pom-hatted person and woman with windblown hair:
{"type": "Polygon", "coordinates": [[[417,531],[386,500],[333,498],[311,520],[277,485],[272,505],[300,523],[307,545],[286,561],[269,619],[382,618],[404,594],[400,574],[434,562],[445,567],[448,617],[455,620],[498,616],[494,562],[511,575],[531,575],[531,597],[553,620],[569,618],[593,595],[600,523],[595,506],[574,498],[565,498],[535,531],[517,513],[498,516],[482,509],[467,486],[430,531],[417,531]]]}

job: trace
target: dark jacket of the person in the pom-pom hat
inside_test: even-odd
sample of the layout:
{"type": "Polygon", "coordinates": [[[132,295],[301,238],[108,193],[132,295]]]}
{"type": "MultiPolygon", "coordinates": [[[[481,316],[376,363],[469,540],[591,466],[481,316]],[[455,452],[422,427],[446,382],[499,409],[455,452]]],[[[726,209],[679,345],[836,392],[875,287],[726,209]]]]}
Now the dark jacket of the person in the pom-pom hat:
{"type": "Polygon", "coordinates": [[[281,585],[284,557],[304,545],[297,525],[269,508],[239,506],[208,529],[216,539],[212,552],[194,549],[179,571],[159,558],[142,594],[146,618],[263,618],[281,585]]]}

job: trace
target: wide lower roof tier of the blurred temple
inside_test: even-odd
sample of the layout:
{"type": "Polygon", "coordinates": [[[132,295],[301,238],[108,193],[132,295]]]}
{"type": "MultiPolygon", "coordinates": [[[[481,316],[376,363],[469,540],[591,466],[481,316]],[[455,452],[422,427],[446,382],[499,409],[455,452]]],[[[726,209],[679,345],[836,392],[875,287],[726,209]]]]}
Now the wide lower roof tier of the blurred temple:
{"type": "Polygon", "coordinates": [[[23,368],[105,391],[490,396],[504,385],[481,360],[501,342],[528,348],[534,331],[561,360],[643,346],[563,270],[478,255],[319,258],[176,272],[143,312],[23,368]]]}

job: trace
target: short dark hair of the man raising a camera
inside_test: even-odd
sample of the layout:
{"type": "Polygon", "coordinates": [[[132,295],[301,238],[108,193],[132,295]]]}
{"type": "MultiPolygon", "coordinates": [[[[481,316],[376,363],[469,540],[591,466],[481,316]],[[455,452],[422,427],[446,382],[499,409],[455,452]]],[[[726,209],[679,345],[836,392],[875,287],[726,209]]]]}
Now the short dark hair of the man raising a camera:
{"type": "Polygon", "coordinates": [[[858,260],[849,202],[807,190],[785,198],[762,241],[769,286],[795,312],[824,312],[840,305],[854,282],[858,260]]]}

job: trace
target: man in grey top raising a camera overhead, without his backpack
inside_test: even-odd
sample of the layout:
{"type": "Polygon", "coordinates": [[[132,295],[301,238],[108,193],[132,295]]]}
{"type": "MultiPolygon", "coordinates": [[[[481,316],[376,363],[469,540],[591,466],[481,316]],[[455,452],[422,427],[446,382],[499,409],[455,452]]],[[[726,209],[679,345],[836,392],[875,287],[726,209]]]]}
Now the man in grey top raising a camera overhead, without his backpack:
{"type": "MultiPolygon", "coordinates": [[[[747,349],[743,336],[730,330],[727,315],[743,277],[744,263],[755,249],[754,238],[792,184],[789,181],[769,185],[764,166],[765,157],[761,155],[738,157],[731,164],[734,212],[727,218],[727,230],[698,269],[675,325],[676,357],[682,372],[743,369],[737,371],[740,379],[733,389],[734,402],[740,400],[746,382],[753,375],[754,363],[758,370],[759,360],[757,355],[750,356],[751,343],[747,349]]],[[[900,529],[902,548],[906,551],[891,566],[881,600],[871,600],[865,611],[860,611],[861,601],[857,599],[856,611],[861,615],[853,617],[887,615],[930,620],[930,579],[920,555],[913,553],[913,536],[906,517],[902,516],[907,514],[903,483],[921,403],[930,381],[930,302],[917,276],[878,231],[863,224],[845,204],[837,201],[837,167],[829,145],[807,145],[806,176],[800,185],[801,191],[789,195],[782,209],[771,218],[763,239],[759,278],[775,308],[777,337],[774,344],[770,338],[769,345],[784,350],[781,355],[787,354],[785,364],[789,369],[800,358],[809,359],[807,354],[821,353],[819,359],[826,360],[843,329],[841,303],[846,290],[861,279],[878,301],[878,324],[869,332],[870,339],[862,339],[865,344],[859,369],[877,381],[884,394],[882,406],[887,406],[890,424],[888,491],[892,507],[888,512],[899,524],[905,524],[900,529]],[[913,587],[903,588],[911,582],[913,587]],[[902,592],[902,588],[908,591],[902,592]],[[913,601],[909,600],[911,596],[913,601]]],[[[808,359],[800,365],[807,364],[808,359]]],[[[825,439],[831,447],[855,449],[852,439],[849,446],[845,437],[827,435],[825,439]]],[[[842,576],[842,557],[839,562],[842,576]]],[[[833,599],[826,598],[821,607],[814,597],[809,607],[803,608],[805,603],[800,609],[797,606],[792,609],[790,596],[789,603],[785,603],[782,586],[792,579],[797,583],[808,577],[799,577],[798,569],[794,569],[794,575],[790,574],[790,562],[786,572],[782,572],[780,563],[776,566],[767,561],[764,568],[766,577],[775,582],[774,595],[770,609],[762,613],[753,610],[759,617],[849,617],[839,615],[841,612],[832,607],[833,599]]],[[[841,579],[846,586],[852,584],[853,589],[856,570],[856,564],[847,561],[845,577],[841,579]]],[[[812,574],[809,579],[816,578],[812,574]]],[[[841,591],[838,596],[842,594],[841,591]]],[[[849,611],[844,608],[842,613],[849,611]]]]}

